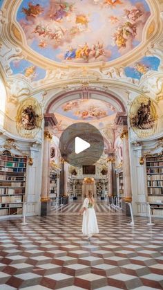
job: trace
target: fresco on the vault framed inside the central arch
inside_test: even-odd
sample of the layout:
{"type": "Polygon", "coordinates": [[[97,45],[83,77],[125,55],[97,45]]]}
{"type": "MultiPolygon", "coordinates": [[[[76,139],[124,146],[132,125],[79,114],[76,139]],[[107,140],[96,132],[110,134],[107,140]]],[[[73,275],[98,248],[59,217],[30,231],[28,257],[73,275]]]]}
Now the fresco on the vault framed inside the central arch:
{"type": "Polygon", "coordinates": [[[101,100],[73,100],[66,102],[55,110],[55,113],[73,120],[100,120],[112,116],[116,109],[101,100]]]}

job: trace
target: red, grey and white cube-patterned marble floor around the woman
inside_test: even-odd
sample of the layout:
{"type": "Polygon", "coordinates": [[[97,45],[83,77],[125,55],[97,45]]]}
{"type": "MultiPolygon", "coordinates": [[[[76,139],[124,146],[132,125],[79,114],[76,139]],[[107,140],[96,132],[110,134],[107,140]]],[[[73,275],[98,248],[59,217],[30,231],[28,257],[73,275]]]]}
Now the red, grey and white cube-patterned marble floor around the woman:
{"type": "Polygon", "coordinates": [[[73,213],[30,217],[26,226],[1,221],[1,290],[163,289],[162,219],[151,227],[135,217],[131,226],[122,213],[101,212],[99,234],[88,240],[73,213]]]}

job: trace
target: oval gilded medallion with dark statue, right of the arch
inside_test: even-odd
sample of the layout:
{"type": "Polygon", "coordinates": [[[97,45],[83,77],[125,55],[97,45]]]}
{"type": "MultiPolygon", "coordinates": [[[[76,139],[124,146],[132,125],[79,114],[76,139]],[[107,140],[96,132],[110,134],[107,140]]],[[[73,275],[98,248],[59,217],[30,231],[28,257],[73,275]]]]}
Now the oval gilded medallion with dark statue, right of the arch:
{"type": "Polygon", "coordinates": [[[138,96],[133,101],[130,110],[130,122],[133,131],[140,138],[146,138],[155,133],[157,111],[154,102],[146,96],[138,96]]]}

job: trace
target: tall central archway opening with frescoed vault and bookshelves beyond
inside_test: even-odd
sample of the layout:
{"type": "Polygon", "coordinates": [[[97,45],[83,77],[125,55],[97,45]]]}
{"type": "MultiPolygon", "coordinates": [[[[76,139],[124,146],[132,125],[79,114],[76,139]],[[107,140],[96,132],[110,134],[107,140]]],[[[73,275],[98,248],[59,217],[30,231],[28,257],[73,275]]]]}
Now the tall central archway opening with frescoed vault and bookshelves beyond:
{"type": "Polygon", "coordinates": [[[48,114],[55,117],[56,125],[51,129],[55,138],[60,138],[68,126],[81,122],[95,126],[104,138],[102,156],[95,163],[94,169],[87,168],[87,171],[84,166],[72,166],[61,160],[59,148],[56,143],[53,144],[57,155],[50,156],[50,165],[53,163],[53,167],[50,166],[50,178],[53,179],[50,180],[50,199],[84,198],[86,179],[93,180],[93,193],[97,199],[117,194],[114,164],[119,125],[115,121],[119,114],[126,116],[122,100],[97,89],[90,89],[87,93],[77,89],[55,96],[46,107],[45,116],[48,114]]]}

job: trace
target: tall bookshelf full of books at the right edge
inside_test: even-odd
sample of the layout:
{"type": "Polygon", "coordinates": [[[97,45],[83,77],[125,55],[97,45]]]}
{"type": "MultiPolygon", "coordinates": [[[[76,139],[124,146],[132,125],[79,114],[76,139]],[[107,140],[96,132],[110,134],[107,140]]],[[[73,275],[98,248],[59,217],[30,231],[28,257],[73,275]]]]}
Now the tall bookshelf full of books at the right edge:
{"type": "MultiPolygon", "coordinates": [[[[161,204],[163,201],[163,155],[146,156],[147,201],[161,204]]],[[[153,208],[153,215],[162,215],[162,206],[153,208]]]]}

